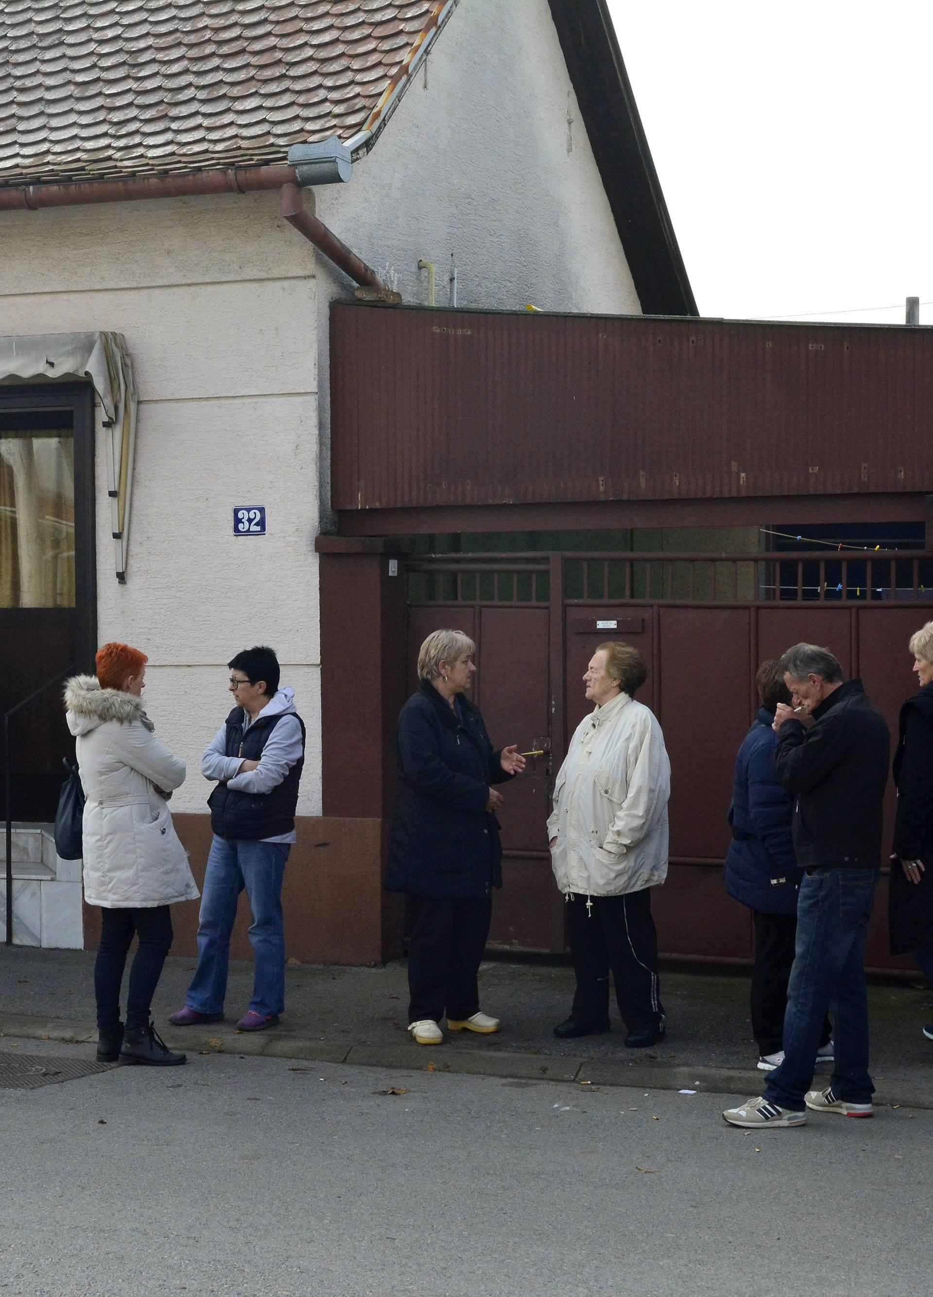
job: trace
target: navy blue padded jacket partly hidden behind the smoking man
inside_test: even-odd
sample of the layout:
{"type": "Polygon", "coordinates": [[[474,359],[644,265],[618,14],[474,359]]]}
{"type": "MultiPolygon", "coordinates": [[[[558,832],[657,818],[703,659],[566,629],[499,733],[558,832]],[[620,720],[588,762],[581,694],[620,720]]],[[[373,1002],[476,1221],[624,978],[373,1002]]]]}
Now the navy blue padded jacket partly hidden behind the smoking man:
{"type": "Polygon", "coordinates": [[[775,713],[759,707],[736,757],[732,785],[732,846],[725,857],[725,890],[764,914],[797,910],[797,868],[790,840],[793,804],[777,781],[771,729],[775,713]]]}

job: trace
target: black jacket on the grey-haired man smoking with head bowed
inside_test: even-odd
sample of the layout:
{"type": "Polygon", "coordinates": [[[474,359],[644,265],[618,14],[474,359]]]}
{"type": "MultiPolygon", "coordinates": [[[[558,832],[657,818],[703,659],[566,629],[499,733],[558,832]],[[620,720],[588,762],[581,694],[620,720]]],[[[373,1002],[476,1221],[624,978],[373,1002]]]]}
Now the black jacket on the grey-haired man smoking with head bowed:
{"type": "Polygon", "coordinates": [[[890,734],[860,680],[814,708],[815,724],[781,725],[777,778],[794,799],[801,869],[880,869],[881,813],[890,734]]]}

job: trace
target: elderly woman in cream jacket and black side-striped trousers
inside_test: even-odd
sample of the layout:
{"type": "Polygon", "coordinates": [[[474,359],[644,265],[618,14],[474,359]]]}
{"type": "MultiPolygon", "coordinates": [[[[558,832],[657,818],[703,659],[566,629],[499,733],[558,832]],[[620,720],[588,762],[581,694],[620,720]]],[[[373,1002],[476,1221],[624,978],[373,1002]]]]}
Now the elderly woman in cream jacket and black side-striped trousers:
{"type": "Polygon", "coordinates": [[[583,677],[594,711],[574,734],[548,821],[576,974],[571,1014],[554,1035],[609,1031],[611,970],[631,1049],[666,1030],[650,888],[667,877],[671,764],[654,713],[635,700],[646,677],[637,648],[609,641],[596,650],[583,677]]]}

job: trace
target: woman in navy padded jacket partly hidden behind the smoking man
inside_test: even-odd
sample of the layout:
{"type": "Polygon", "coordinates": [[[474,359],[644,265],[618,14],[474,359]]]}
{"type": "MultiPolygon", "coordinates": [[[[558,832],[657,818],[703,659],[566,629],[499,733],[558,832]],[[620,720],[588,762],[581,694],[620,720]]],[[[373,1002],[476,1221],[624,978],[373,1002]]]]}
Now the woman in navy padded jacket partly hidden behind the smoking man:
{"type": "MultiPolygon", "coordinates": [[[[751,973],[751,1030],[758,1066],[771,1071],[782,1060],[784,1012],[797,938],[797,868],[790,839],[792,802],[777,782],[771,729],[779,703],[790,703],[780,664],[763,661],[755,676],[760,707],[736,759],[729,824],[732,846],[725,857],[725,890],[751,910],[755,962],[751,973]]],[[[818,1053],[832,1061],[827,1019],[818,1053]]]]}

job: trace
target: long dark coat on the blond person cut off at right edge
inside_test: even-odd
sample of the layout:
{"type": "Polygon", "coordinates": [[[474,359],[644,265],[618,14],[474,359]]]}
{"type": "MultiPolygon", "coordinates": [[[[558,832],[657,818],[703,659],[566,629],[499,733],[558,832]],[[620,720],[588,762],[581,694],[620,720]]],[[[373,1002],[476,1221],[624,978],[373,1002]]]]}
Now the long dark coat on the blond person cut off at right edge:
{"type": "Polygon", "coordinates": [[[933,955],[933,685],[901,708],[894,782],[898,811],[891,850],[901,860],[921,860],[924,872],[919,883],[910,883],[899,861],[891,861],[891,955],[933,955]]]}

